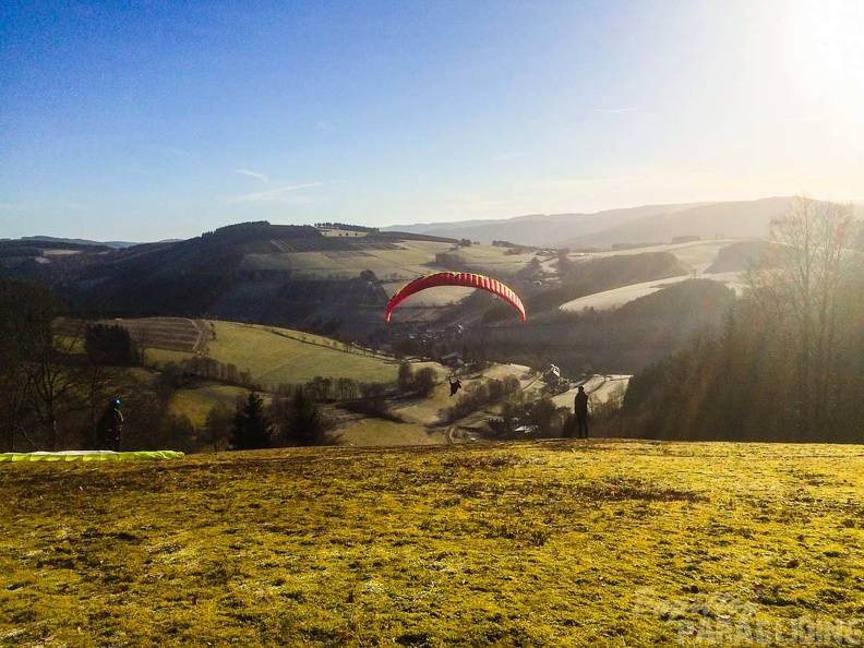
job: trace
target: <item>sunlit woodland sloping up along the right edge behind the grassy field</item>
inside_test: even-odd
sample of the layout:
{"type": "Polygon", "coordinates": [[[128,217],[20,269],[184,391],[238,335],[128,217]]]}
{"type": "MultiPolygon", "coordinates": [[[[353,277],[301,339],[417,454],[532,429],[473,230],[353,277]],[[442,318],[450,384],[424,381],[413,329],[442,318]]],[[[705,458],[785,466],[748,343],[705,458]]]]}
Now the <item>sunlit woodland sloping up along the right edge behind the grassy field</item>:
{"type": "Polygon", "coordinates": [[[799,196],[723,325],[633,376],[622,429],[653,439],[864,440],[864,229],[799,196]]]}

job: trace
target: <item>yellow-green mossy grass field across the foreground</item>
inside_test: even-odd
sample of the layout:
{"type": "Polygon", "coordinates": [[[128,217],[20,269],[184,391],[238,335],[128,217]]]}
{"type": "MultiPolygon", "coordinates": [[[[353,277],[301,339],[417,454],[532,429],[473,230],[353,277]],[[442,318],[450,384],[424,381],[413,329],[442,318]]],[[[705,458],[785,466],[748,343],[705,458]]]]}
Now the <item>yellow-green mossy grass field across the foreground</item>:
{"type": "Polygon", "coordinates": [[[863,469],[603,440],[4,465],[0,645],[860,643],[863,469]]]}

